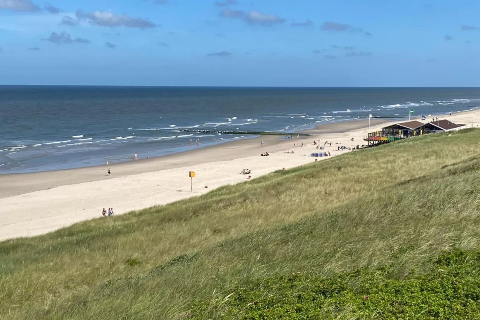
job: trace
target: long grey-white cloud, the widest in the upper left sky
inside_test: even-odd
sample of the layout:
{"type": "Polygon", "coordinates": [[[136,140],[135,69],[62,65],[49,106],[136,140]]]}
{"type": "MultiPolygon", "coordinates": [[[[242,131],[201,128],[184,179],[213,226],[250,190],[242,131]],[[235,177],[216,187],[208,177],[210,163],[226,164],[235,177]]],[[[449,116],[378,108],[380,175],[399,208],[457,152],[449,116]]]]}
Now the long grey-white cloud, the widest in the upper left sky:
{"type": "Polygon", "coordinates": [[[79,9],[75,13],[78,20],[88,21],[91,25],[101,25],[109,27],[124,26],[128,28],[153,28],[156,24],[142,18],[132,18],[127,14],[117,15],[109,11],[95,11],[93,13],[84,12],[79,9]]]}

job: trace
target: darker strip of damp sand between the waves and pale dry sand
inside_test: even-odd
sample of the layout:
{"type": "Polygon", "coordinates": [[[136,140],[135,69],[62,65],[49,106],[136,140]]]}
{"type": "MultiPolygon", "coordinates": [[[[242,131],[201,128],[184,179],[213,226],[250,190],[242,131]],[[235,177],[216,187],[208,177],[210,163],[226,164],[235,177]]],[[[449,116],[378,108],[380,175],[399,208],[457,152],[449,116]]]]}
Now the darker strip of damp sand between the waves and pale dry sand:
{"type": "MultiPolygon", "coordinates": [[[[381,123],[389,122],[387,118],[372,118],[371,125],[378,125],[381,123]]],[[[313,129],[301,130],[297,133],[308,134],[310,136],[300,136],[299,140],[312,138],[312,135],[323,134],[335,134],[346,133],[348,131],[365,128],[368,125],[368,119],[355,119],[334,123],[323,123],[315,126],[313,129]]],[[[227,152],[221,152],[219,150],[227,151],[234,149],[236,151],[241,150],[242,157],[252,156],[260,154],[261,147],[260,142],[264,141],[264,147],[268,146],[268,152],[278,152],[283,150],[283,147],[278,149],[279,145],[282,145],[291,140],[284,140],[280,135],[259,135],[246,139],[238,139],[235,141],[228,141],[224,143],[218,143],[209,145],[206,147],[197,148],[196,145],[192,145],[191,150],[176,152],[164,156],[144,158],[138,160],[130,160],[118,163],[112,163],[108,165],[113,173],[108,176],[107,166],[87,166],[81,168],[72,169],[60,169],[41,172],[28,172],[28,173],[3,173],[0,174],[0,181],[2,185],[9,185],[8,189],[0,187],[0,198],[12,197],[21,195],[24,193],[46,190],[62,185],[71,184],[71,179],[75,178],[75,183],[93,182],[100,180],[107,180],[113,177],[129,176],[134,174],[140,174],[144,172],[152,172],[157,170],[175,169],[188,165],[193,165],[197,161],[185,159],[188,155],[193,157],[202,158],[202,163],[209,163],[214,161],[228,161],[241,158],[235,154],[228,154],[227,152]],[[238,150],[240,149],[240,150],[238,150]],[[253,152],[253,150],[255,152],[253,152]],[[213,156],[215,154],[215,156],[213,156]],[[162,165],[159,169],[157,165],[162,165]]]]}

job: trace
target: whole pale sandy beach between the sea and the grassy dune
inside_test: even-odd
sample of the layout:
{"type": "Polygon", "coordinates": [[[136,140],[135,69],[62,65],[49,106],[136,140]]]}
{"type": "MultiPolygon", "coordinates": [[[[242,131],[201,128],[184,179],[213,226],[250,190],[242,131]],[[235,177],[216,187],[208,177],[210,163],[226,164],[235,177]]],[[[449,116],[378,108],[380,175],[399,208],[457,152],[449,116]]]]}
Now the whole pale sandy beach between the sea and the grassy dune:
{"type": "MultiPolygon", "coordinates": [[[[477,127],[480,110],[439,119],[477,127]]],[[[427,118],[427,122],[431,120],[427,118]]],[[[380,129],[385,122],[373,118],[370,132],[380,129]]],[[[358,120],[321,125],[303,132],[310,136],[295,136],[293,140],[268,135],[206,148],[192,146],[188,152],[113,164],[109,166],[110,176],[106,166],[0,175],[0,240],[44,234],[75,222],[102,218],[103,208],[113,207],[115,214],[122,214],[198,196],[222,185],[248,181],[246,175],[240,174],[242,169],[250,169],[254,179],[311,163],[316,159],[309,156],[316,151],[314,140],[320,139],[321,146],[325,141],[331,142],[332,146],[327,145],[324,150],[331,156],[343,154],[349,151],[338,151],[338,146],[366,144],[363,138],[367,129],[368,120],[358,120]],[[290,150],[294,153],[285,153],[290,150]],[[270,156],[260,157],[264,152],[270,156]],[[192,192],[189,171],[195,172],[192,192]]]]}

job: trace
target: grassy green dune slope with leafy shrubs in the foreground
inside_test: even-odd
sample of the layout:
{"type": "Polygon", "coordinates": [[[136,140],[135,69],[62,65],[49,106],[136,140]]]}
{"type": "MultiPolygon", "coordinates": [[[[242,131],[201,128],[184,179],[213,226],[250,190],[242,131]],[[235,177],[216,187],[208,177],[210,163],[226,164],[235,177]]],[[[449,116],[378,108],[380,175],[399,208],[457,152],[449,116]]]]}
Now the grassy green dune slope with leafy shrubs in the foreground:
{"type": "Polygon", "coordinates": [[[0,243],[0,319],[478,319],[480,130],[0,243]]]}

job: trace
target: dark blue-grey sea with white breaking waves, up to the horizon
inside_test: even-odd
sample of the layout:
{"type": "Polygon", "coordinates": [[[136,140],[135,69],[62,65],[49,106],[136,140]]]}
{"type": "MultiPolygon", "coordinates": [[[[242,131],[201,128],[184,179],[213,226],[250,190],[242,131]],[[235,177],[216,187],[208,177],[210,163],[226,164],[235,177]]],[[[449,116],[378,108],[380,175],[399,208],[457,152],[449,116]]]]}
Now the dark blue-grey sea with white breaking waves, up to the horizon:
{"type": "Polygon", "coordinates": [[[480,107],[480,88],[0,86],[0,173],[93,166],[321,123],[480,107]],[[190,143],[190,139],[193,143],[190,143]],[[200,139],[197,146],[195,141],[200,139]]]}

